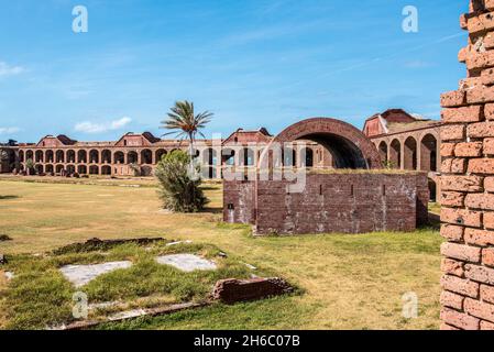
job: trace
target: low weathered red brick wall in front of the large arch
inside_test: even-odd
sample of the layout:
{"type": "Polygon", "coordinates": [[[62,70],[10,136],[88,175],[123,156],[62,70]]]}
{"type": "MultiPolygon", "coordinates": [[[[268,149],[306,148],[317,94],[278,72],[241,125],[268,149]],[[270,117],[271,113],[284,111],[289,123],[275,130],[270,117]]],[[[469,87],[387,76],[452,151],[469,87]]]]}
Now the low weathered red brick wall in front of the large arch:
{"type": "Polygon", "coordinates": [[[288,184],[226,182],[224,221],[253,223],[259,234],[301,234],[413,231],[428,219],[425,174],[311,174],[294,194],[288,184]]]}

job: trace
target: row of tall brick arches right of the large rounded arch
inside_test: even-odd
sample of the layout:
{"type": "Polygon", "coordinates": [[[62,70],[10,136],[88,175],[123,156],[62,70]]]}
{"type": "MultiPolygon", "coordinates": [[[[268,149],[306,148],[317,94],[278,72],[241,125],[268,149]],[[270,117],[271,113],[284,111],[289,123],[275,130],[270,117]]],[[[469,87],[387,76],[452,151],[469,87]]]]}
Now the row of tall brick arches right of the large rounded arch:
{"type": "Polygon", "coordinates": [[[426,134],[419,142],[408,136],[402,145],[398,139],[389,144],[382,141],[378,151],[383,162],[393,168],[438,172],[438,140],[426,134]]]}

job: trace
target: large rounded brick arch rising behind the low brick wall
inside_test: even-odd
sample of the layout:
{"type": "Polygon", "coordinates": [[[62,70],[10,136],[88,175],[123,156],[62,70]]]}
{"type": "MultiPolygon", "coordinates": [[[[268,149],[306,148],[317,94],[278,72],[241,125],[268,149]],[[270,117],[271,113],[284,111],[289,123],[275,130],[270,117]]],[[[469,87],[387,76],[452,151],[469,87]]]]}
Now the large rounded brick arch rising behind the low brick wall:
{"type": "Polygon", "coordinates": [[[307,119],[285,129],[273,142],[297,140],[310,140],[331,150],[338,168],[382,167],[375,145],[360,130],[340,120],[307,119]]]}

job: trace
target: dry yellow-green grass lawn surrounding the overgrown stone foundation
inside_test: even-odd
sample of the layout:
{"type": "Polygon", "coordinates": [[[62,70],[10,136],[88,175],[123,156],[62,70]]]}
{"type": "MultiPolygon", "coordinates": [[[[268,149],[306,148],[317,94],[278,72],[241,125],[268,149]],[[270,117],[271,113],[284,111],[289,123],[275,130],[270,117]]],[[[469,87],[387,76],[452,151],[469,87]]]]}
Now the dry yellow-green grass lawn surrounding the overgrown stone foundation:
{"type": "MultiPolygon", "coordinates": [[[[439,246],[435,230],[415,233],[252,238],[249,227],[221,223],[221,189],[208,186],[210,209],[160,211],[156,189],[112,185],[35,184],[0,179],[0,253],[42,253],[90,238],[164,237],[211,243],[278,273],[298,296],[235,306],[216,305],[109,329],[437,329],[439,246]],[[402,317],[402,296],[419,298],[418,319],[402,317]]],[[[132,182],[124,182],[125,186],[132,182]]],[[[1,276],[1,275],[0,275],[1,276]]],[[[0,290],[7,283],[0,278],[0,290]]],[[[10,289],[10,288],[9,288],[10,289]]],[[[9,290],[8,289],[8,290],[9,290]]],[[[0,296],[2,299],[2,296],[0,296]]],[[[0,324],[6,323],[0,311],[0,324]]]]}

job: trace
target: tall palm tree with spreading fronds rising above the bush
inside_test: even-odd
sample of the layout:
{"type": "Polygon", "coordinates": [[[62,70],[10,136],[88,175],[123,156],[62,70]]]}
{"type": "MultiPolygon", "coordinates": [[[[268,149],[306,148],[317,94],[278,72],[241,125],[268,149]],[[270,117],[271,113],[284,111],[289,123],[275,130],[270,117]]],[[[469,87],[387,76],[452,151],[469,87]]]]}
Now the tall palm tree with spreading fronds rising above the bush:
{"type": "Polygon", "coordinates": [[[199,134],[202,138],[205,135],[200,132],[201,129],[206,127],[208,122],[211,121],[213,117],[212,112],[205,111],[195,114],[194,102],[177,101],[175,106],[169,109],[171,112],[167,113],[168,119],[162,121],[162,129],[174,130],[174,132],[165,133],[176,134],[177,139],[188,139],[189,140],[189,156],[190,156],[190,170],[194,169],[194,141],[196,135],[199,134]]]}

